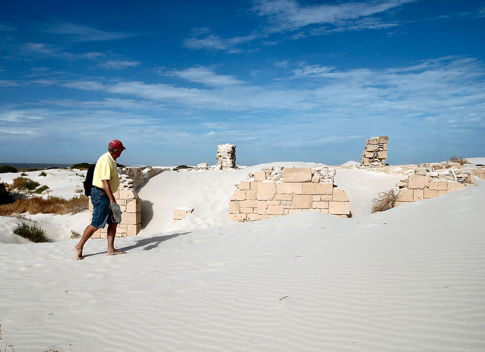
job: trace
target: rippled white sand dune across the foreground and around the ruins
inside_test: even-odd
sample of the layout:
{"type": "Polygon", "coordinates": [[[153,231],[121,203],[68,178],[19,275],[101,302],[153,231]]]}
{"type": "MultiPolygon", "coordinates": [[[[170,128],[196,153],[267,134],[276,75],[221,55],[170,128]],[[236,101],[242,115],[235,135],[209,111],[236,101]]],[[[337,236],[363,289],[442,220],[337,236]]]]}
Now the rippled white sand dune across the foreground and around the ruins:
{"type": "Polygon", "coordinates": [[[9,243],[0,243],[0,345],[485,350],[485,182],[370,214],[366,199],[395,181],[339,170],[336,183],[355,203],[351,219],[309,212],[231,222],[233,184],[251,169],[150,180],[139,194],[152,214],[139,236],[116,240],[128,251],[121,256],[107,257],[105,240],[90,240],[79,261],[75,241],[11,243],[4,232],[12,219],[1,218],[9,243]],[[171,224],[178,206],[195,210],[171,224]]]}

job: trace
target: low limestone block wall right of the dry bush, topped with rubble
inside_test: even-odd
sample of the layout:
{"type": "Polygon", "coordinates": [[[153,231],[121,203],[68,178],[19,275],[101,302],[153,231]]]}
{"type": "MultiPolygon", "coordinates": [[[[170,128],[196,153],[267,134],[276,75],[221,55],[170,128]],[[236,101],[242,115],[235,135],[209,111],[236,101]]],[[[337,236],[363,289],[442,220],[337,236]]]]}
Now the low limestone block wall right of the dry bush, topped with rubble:
{"type": "Polygon", "coordinates": [[[396,184],[400,188],[396,205],[435,198],[474,183],[474,175],[468,170],[430,170],[415,168],[406,179],[396,184]]]}

